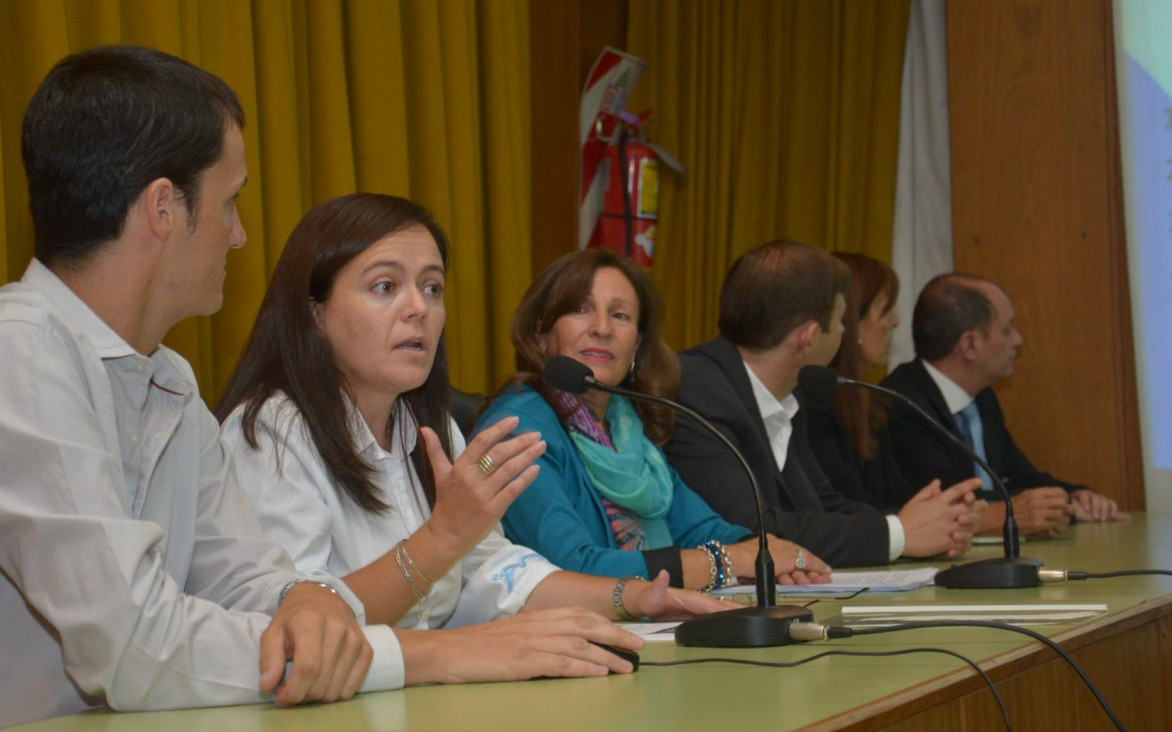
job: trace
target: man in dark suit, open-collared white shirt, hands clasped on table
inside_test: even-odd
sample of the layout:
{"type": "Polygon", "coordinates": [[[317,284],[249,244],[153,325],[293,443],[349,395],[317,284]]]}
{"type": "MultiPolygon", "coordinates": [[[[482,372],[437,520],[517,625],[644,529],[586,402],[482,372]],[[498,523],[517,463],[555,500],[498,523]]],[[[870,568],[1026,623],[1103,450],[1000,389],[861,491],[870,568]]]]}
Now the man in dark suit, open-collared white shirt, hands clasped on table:
{"type": "MultiPolygon", "coordinates": [[[[798,370],[825,365],[843,334],[846,271],[826,252],[775,241],[738,259],[721,290],[721,335],[680,354],[680,401],[745,456],[764,495],[765,528],[836,566],[899,556],[956,556],[972,539],[976,481],[936,481],[884,515],[837,493],[810,451],[798,370]]],[[[752,488],[736,458],[689,419],[665,446],[684,481],[727,520],[756,526],[752,488]]]]}

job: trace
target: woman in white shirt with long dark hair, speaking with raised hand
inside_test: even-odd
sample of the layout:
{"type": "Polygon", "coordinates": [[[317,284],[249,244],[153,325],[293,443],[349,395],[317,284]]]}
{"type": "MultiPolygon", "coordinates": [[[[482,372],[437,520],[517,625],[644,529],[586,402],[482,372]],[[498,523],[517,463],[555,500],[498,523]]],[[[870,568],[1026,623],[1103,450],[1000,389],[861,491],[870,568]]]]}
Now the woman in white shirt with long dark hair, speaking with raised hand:
{"type": "Polygon", "coordinates": [[[218,409],[240,483],[300,569],[342,577],[368,622],[395,627],[408,684],[629,671],[587,643],[641,644],[602,615],[723,606],[666,576],[561,572],[502,535],[545,444],[507,438],[503,419],[465,450],[448,413],[447,268],[447,237],[409,200],[357,193],[306,214],[218,409]],[[420,632],[441,628],[459,630],[420,632]]]}

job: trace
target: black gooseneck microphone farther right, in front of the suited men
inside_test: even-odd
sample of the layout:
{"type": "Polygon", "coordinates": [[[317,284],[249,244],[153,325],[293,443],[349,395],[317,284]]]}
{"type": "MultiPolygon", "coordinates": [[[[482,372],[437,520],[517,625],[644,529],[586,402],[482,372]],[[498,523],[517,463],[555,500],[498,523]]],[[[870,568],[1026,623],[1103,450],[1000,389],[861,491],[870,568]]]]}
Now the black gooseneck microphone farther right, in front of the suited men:
{"type": "Polygon", "coordinates": [[[969,449],[963,440],[946,430],[939,422],[932,418],[932,415],[924,411],[919,404],[900,392],[885,386],[877,386],[870,382],[846,378],[830,367],[803,367],[798,371],[798,385],[805,392],[816,396],[829,396],[831,391],[834,391],[839,386],[859,386],[888,396],[900,404],[911,408],[927,424],[932,425],[932,429],[936,433],[942,435],[948,442],[963,450],[965,454],[973,458],[973,461],[983,467],[989,478],[993,479],[993,484],[1001,492],[1002,498],[1006,499],[1006,524],[1001,529],[1002,546],[1004,547],[1006,555],[1002,559],[967,562],[965,565],[955,565],[950,569],[945,569],[936,574],[935,583],[939,587],[953,589],[1003,589],[1037,587],[1041,584],[1038,569],[1042,567],[1042,562],[1036,559],[1021,556],[1021,540],[1017,535],[1017,520],[1014,519],[1014,502],[1009,495],[1009,491],[1006,490],[1006,484],[1001,481],[1001,477],[997,476],[996,471],[981,456],[969,449]]]}

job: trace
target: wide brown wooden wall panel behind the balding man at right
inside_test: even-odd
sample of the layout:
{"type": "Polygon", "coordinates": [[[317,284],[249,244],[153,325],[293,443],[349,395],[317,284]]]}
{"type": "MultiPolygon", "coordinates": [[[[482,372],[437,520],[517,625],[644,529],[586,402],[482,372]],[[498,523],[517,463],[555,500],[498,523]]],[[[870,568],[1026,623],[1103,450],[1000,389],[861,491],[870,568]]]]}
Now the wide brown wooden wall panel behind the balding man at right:
{"type": "Polygon", "coordinates": [[[956,268],[999,282],[1026,343],[997,386],[1035,464],[1144,505],[1111,0],[950,0],[956,268]]]}

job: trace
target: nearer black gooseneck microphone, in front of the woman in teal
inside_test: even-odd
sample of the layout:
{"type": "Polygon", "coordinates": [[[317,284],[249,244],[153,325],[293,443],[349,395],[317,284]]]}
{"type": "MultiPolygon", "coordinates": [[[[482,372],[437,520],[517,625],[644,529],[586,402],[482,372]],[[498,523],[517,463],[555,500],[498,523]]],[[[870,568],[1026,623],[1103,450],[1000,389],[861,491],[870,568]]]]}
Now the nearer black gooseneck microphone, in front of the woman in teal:
{"type": "Polygon", "coordinates": [[[666,406],[675,412],[694,419],[710,432],[722,445],[736,456],[752,485],[752,495],[757,507],[757,561],[755,565],[757,580],[757,607],[738,610],[714,613],[681,623],[675,629],[675,641],[681,645],[703,648],[763,648],[768,645],[786,645],[792,643],[789,625],[792,622],[806,622],[813,618],[813,613],[793,606],[776,607],[777,577],[774,572],[774,557],[769,553],[765,538],[765,508],[761,497],[757,479],[749,463],[728,437],[704,419],[695,410],[679,402],[652,396],[639,391],[629,391],[618,386],[608,386],[594,378],[590,367],[574,361],[570,356],[553,356],[545,364],[543,379],[550,386],[570,394],[585,394],[590,390],[615,394],[628,399],[650,402],[666,406]]]}

